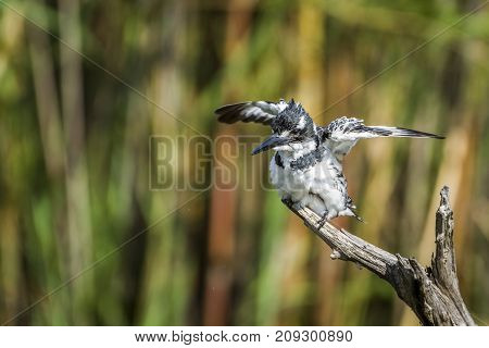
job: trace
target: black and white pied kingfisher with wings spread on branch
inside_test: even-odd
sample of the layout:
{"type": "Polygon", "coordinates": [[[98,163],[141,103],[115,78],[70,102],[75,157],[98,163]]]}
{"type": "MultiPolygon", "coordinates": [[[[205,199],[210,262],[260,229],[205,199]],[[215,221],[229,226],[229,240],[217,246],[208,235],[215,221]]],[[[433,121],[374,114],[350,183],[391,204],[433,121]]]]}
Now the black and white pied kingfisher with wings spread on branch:
{"type": "Polygon", "coordinates": [[[273,134],[252,154],[269,149],[272,184],[283,199],[308,207],[323,223],[337,216],[355,216],[355,206],[347,191],[342,161],[360,139],[377,137],[443,137],[399,127],[366,126],[363,120],[339,117],[325,127],[314,124],[300,103],[248,101],[215,110],[224,123],[256,122],[272,127],[273,134]]]}

